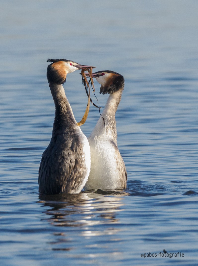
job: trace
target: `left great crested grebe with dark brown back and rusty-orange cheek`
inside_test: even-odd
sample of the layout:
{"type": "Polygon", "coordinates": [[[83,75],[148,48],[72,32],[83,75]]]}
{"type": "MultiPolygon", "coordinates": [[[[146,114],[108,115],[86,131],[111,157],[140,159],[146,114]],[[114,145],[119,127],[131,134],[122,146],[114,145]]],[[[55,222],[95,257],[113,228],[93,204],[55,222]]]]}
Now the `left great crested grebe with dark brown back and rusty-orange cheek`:
{"type": "Polygon", "coordinates": [[[90,147],[77,125],[62,84],[68,73],[90,68],[66,59],[48,59],[47,80],[55,104],[55,119],[49,146],[39,167],[39,192],[79,193],[90,172],[90,147]]]}

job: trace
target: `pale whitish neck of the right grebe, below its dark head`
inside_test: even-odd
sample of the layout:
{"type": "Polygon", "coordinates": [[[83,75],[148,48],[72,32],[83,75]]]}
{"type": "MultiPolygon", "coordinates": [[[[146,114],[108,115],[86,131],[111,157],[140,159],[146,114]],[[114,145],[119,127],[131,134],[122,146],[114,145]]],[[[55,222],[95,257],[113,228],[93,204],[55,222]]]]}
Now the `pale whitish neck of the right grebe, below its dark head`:
{"type": "Polygon", "coordinates": [[[123,89],[120,89],[119,91],[109,95],[102,117],[99,118],[94,130],[91,133],[92,138],[107,138],[117,144],[115,113],[121,100],[122,90],[123,89]]]}

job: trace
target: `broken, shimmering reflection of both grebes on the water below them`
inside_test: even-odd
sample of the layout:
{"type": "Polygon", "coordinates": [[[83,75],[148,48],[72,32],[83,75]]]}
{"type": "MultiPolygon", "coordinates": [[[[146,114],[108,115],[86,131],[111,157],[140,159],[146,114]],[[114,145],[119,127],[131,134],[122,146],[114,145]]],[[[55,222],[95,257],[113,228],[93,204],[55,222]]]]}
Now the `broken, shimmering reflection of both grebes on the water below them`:
{"type": "Polygon", "coordinates": [[[120,237],[122,229],[117,227],[118,213],[123,211],[123,196],[128,193],[122,190],[112,193],[114,195],[103,193],[108,195],[84,192],[78,195],[39,196],[38,203],[45,209],[47,207],[44,213],[49,216],[42,221],[52,226],[53,240],[48,243],[52,250],[76,250],[74,254],[63,255],[70,258],[113,256],[115,259],[121,256],[123,250],[119,246],[124,239],[120,237]],[[55,230],[58,228],[58,232],[53,232],[53,227],[55,230]],[[109,243],[118,245],[115,248],[109,243]]]}

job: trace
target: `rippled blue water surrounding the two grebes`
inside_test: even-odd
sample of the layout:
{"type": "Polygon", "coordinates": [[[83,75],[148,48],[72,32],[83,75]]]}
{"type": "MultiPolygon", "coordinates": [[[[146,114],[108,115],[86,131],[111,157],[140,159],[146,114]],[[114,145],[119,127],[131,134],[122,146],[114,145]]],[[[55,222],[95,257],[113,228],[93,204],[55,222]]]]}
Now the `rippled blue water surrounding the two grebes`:
{"type": "MultiPolygon", "coordinates": [[[[197,265],[197,2],[0,6],[1,265],[197,265]],[[126,190],[39,196],[54,119],[47,58],[124,76],[116,120],[126,190]]],[[[80,121],[87,97],[78,71],[64,88],[80,121]]],[[[86,136],[98,118],[91,106],[86,136]]]]}

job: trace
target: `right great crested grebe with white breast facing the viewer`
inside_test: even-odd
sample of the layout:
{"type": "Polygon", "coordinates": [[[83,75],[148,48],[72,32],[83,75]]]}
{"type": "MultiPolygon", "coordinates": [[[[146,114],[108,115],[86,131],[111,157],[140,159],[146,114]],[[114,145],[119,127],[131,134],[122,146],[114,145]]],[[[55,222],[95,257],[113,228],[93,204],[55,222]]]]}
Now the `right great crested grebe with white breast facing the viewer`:
{"type": "Polygon", "coordinates": [[[91,170],[84,188],[85,190],[126,188],[127,172],[117,146],[115,120],[115,113],[124,89],[124,78],[110,70],[98,71],[92,73],[92,76],[101,84],[100,93],[110,95],[102,117],[88,138],[91,170]]]}

